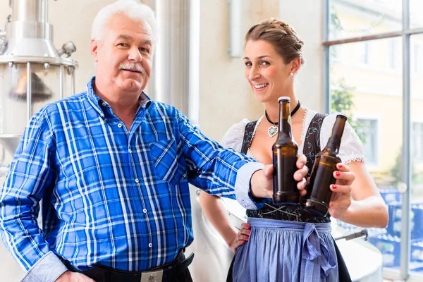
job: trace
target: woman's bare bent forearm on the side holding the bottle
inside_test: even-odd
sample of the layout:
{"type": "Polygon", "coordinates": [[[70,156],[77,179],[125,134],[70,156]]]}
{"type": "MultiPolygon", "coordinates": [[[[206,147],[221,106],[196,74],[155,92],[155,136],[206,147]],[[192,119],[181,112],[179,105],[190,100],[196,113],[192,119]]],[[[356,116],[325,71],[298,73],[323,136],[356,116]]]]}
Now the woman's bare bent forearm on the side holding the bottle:
{"type": "Polygon", "coordinates": [[[381,197],[352,200],[340,220],[360,227],[385,228],[388,225],[388,209],[381,197]]]}

